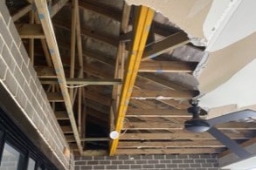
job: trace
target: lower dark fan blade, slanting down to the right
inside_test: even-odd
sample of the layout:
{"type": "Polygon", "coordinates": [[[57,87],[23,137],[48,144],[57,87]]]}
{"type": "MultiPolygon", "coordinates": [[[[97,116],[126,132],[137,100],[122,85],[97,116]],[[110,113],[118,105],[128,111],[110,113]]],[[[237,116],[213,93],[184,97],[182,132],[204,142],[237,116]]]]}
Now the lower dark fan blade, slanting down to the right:
{"type": "Polygon", "coordinates": [[[222,144],[227,146],[227,148],[232,150],[232,152],[238,155],[240,158],[246,159],[252,155],[251,153],[247,152],[246,149],[244,149],[242,146],[239,146],[237,142],[226,136],[225,133],[219,131],[216,127],[212,126],[208,130],[208,133],[210,133],[213,137],[218,139],[222,144]]]}

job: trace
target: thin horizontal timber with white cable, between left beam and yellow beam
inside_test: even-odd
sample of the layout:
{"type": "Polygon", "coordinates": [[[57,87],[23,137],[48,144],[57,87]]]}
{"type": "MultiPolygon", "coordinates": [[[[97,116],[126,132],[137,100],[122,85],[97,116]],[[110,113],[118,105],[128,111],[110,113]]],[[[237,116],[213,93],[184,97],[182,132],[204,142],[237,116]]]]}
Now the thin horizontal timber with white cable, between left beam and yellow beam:
{"type": "Polygon", "coordinates": [[[66,78],[67,85],[121,85],[121,79],[66,78]]]}

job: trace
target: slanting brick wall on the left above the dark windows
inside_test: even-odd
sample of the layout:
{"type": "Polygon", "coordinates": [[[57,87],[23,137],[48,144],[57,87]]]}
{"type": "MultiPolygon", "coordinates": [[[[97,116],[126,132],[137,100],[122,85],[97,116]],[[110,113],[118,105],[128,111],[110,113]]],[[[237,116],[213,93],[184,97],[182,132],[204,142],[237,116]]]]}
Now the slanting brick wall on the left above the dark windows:
{"type": "MultiPolygon", "coordinates": [[[[37,73],[31,65],[9,10],[2,0],[0,1],[0,85],[9,92],[22,111],[20,114],[24,114],[38,131],[40,138],[50,147],[60,164],[65,169],[70,169],[70,160],[63,154],[64,148],[68,147],[66,139],[55,119],[37,73]]],[[[41,147],[40,144],[36,145],[41,147]]]]}

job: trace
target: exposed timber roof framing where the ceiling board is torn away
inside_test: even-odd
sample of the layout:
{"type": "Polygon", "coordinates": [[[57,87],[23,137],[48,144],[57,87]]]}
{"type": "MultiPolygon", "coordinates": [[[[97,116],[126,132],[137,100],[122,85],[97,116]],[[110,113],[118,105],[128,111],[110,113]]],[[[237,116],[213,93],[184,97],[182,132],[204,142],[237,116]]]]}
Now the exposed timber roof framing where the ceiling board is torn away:
{"type": "MultiPolygon", "coordinates": [[[[73,153],[225,150],[209,133],[183,130],[200,94],[193,74],[208,53],[174,21],[120,0],[6,3],[73,153]],[[113,131],[118,139],[109,139],[113,131]]],[[[218,128],[241,143],[256,126],[218,128]]]]}

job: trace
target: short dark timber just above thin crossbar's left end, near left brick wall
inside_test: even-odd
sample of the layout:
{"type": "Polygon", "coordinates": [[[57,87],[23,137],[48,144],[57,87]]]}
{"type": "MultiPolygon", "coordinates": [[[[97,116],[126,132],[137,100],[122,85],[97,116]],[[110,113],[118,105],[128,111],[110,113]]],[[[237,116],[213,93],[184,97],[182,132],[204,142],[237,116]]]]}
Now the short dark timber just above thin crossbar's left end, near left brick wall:
{"type": "Polygon", "coordinates": [[[38,78],[57,78],[54,67],[34,66],[37,71],[38,78]]]}

